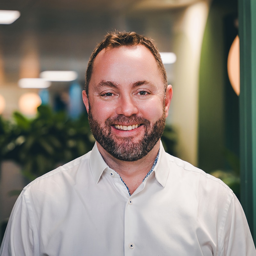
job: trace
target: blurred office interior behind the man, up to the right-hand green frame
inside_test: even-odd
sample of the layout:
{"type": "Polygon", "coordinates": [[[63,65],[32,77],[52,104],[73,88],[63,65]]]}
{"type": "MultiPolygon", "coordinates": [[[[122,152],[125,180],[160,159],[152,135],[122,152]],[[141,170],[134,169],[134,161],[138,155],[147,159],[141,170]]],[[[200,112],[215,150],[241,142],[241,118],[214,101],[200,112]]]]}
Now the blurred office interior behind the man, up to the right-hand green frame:
{"type": "Polygon", "coordinates": [[[236,0],[2,0],[0,10],[19,12],[0,24],[0,221],[26,183],[91,149],[85,70],[115,29],[149,36],[163,53],[173,86],[166,150],[239,197],[239,68],[228,72],[236,0]]]}

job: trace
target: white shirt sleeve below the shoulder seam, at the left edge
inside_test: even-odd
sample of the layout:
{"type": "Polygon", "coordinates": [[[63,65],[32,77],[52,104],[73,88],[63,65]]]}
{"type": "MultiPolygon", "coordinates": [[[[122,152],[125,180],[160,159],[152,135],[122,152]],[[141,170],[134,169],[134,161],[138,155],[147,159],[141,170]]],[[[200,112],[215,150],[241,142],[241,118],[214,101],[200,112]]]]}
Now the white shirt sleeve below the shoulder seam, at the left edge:
{"type": "Polygon", "coordinates": [[[18,197],[0,248],[1,256],[35,256],[34,232],[24,191],[18,197]]]}

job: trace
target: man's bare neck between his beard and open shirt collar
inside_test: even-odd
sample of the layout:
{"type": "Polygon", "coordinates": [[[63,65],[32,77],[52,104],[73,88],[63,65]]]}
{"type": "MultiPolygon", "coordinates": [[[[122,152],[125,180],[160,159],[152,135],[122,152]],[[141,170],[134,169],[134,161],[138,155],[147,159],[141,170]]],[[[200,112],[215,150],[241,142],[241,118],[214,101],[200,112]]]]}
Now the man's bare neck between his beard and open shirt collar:
{"type": "Polygon", "coordinates": [[[106,164],[120,175],[129,188],[130,194],[132,194],[151,170],[160,148],[160,140],[146,156],[133,162],[116,159],[102,148],[98,142],[97,147],[106,164]]]}

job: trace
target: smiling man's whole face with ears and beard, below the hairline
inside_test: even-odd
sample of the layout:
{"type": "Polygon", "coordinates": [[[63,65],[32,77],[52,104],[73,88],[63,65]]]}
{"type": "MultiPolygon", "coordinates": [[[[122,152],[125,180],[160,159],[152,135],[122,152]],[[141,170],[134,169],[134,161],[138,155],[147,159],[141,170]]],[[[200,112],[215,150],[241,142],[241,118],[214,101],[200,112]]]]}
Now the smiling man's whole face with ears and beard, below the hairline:
{"type": "Polygon", "coordinates": [[[171,100],[152,53],[142,45],[103,49],[83,100],[96,141],[115,158],[136,161],[159,142],[171,100]]]}

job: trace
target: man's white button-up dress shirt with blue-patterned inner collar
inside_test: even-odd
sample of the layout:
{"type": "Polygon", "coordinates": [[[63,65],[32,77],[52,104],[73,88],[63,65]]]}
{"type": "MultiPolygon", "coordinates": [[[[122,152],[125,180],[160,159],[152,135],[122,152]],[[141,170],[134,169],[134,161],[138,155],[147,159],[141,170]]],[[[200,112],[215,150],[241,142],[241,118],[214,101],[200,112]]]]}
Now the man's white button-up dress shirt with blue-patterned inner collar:
{"type": "Polygon", "coordinates": [[[256,255],[234,193],[162,144],[132,196],[117,172],[95,144],[31,182],[13,207],[0,255],[256,255]]]}

